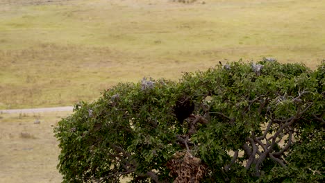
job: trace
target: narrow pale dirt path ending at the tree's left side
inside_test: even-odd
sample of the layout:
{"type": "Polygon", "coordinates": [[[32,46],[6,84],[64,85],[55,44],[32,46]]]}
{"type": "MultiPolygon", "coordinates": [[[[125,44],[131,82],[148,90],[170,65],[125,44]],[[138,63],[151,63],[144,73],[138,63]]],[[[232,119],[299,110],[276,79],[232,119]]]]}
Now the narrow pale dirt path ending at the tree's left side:
{"type": "Polygon", "coordinates": [[[0,110],[0,114],[14,114],[14,113],[37,113],[37,112],[58,112],[58,111],[72,111],[74,107],[47,107],[47,108],[35,108],[35,109],[21,109],[21,110],[0,110]]]}

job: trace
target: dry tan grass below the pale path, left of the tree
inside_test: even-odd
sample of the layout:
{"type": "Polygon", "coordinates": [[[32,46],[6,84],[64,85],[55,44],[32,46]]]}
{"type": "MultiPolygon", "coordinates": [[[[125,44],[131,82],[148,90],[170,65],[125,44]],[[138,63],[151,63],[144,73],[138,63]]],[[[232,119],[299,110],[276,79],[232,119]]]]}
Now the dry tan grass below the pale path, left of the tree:
{"type": "Polygon", "coordinates": [[[0,182],[61,182],[53,125],[64,116],[67,112],[0,114],[0,182]]]}

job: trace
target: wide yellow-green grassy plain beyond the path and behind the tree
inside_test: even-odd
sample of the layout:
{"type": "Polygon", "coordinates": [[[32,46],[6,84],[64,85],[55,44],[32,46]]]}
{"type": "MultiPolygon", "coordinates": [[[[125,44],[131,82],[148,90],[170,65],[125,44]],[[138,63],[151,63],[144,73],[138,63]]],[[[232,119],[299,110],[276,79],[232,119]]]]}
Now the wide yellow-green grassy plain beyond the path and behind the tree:
{"type": "Polygon", "coordinates": [[[274,57],[315,69],[325,2],[41,0],[0,4],[0,109],[92,101],[117,82],[274,57]],[[40,3],[41,2],[41,3],[40,3]]]}

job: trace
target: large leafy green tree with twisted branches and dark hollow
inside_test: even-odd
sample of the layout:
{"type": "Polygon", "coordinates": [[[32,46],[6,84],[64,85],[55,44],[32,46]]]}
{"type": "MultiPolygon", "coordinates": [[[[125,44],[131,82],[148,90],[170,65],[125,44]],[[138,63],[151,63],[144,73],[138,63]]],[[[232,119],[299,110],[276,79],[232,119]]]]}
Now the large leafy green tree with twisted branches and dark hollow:
{"type": "Polygon", "coordinates": [[[58,122],[58,169],[63,182],[322,182],[324,119],[324,62],[144,78],[58,122]]]}

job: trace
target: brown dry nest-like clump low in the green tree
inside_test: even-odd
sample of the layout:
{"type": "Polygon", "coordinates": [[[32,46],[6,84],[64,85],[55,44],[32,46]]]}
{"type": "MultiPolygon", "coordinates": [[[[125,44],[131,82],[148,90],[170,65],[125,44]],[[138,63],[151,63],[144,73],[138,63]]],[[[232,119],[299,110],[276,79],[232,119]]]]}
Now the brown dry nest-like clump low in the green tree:
{"type": "Polygon", "coordinates": [[[201,159],[189,152],[177,152],[167,167],[170,169],[169,176],[176,177],[174,183],[199,183],[207,168],[201,159]]]}

